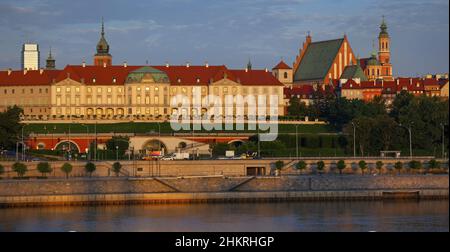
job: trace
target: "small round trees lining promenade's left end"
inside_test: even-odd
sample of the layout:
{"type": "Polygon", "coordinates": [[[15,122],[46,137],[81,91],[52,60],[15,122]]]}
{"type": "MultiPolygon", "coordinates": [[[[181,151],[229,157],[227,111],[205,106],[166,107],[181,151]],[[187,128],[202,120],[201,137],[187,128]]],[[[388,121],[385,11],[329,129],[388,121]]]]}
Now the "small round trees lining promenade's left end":
{"type": "MultiPolygon", "coordinates": [[[[26,164],[16,162],[12,165],[11,169],[13,172],[17,173],[17,176],[19,178],[26,178],[25,174],[28,172],[28,167],[26,164]]],[[[46,178],[47,174],[50,174],[53,172],[53,169],[48,162],[41,162],[41,163],[37,164],[36,169],[38,172],[40,172],[42,174],[41,178],[46,178]]],[[[70,163],[64,163],[60,169],[64,174],[66,174],[66,178],[68,179],[70,173],[72,173],[73,166],[70,163]]],[[[92,177],[92,174],[95,172],[96,169],[97,169],[97,166],[91,162],[86,163],[86,165],[84,166],[85,172],[88,173],[90,177],[92,177]]],[[[119,176],[121,169],[122,169],[122,165],[119,162],[115,162],[112,165],[112,171],[116,174],[116,176],[119,176]]],[[[5,167],[0,165],[0,176],[3,175],[4,173],[5,173],[5,167]]]]}

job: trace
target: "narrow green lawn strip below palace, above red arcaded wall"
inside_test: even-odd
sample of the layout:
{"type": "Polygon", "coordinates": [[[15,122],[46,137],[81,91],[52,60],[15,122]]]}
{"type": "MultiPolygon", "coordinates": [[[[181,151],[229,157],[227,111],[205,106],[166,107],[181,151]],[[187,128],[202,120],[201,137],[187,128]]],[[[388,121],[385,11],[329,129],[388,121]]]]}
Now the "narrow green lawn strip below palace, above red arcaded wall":
{"type": "MultiPolygon", "coordinates": [[[[172,128],[170,127],[170,123],[161,123],[161,133],[167,134],[167,133],[173,133],[172,128]]],[[[279,124],[278,125],[279,133],[295,133],[295,125],[288,125],[288,124],[279,124]]],[[[133,123],[133,122],[127,122],[127,123],[116,123],[116,124],[61,124],[61,123],[48,123],[48,124],[28,124],[25,126],[24,131],[27,133],[37,133],[37,134],[62,134],[62,133],[68,133],[70,128],[71,133],[86,133],[87,128],[89,128],[89,133],[96,132],[97,133],[138,133],[138,134],[145,134],[145,133],[158,133],[158,123],[133,123]]],[[[245,127],[247,128],[247,127],[245,127]]],[[[192,131],[179,131],[179,133],[189,133],[192,131]]],[[[202,132],[202,133],[208,133],[210,131],[196,131],[196,132],[202,132]]],[[[219,132],[225,132],[229,133],[230,131],[225,130],[219,130],[219,131],[212,131],[215,133],[219,132]]],[[[234,131],[237,133],[253,133],[256,131],[234,131]]],[[[299,125],[298,126],[298,133],[299,134],[318,134],[318,133],[335,133],[331,127],[328,125],[299,125]]]]}

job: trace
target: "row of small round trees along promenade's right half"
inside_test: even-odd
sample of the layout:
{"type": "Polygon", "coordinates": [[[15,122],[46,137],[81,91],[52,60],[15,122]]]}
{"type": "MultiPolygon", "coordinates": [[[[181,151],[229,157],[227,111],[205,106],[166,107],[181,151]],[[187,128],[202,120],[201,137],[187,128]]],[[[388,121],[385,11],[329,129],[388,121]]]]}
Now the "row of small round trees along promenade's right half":
{"type": "MultiPolygon", "coordinates": [[[[319,173],[324,172],[324,170],[325,170],[325,162],[324,161],[318,161],[317,163],[310,164],[311,168],[313,165],[315,165],[315,167],[316,167],[317,171],[319,171],[319,173]]],[[[278,173],[281,172],[281,169],[284,166],[285,166],[284,161],[279,160],[279,161],[275,162],[275,168],[277,169],[278,173]]],[[[375,163],[375,168],[379,171],[379,173],[381,173],[384,166],[385,166],[385,164],[382,161],[377,161],[375,163]]],[[[294,168],[299,170],[301,173],[304,172],[307,169],[307,167],[308,167],[308,164],[303,160],[297,162],[294,166],[294,168]]],[[[366,161],[361,160],[358,162],[358,167],[361,170],[362,174],[364,175],[364,172],[368,169],[369,164],[366,161]]],[[[407,167],[409,169],[417,170],[417,171],[420,171],[424,167],[427,167],[429,170],[434,170],[434,169],[440,169],[441,164],[438,161],[436,161],[435,159],[430,160],[427,163],[421,163],[420,161],[412,160],[408,163],[407,167]]],[[[342,175],[343,171],[347,168],[347,164],[345,163],[344,160],[339,160],[336,163],[336,168],[339,170],[339,174],[342,175]]],[[[399,161],[394,164],[394,169],[397,170],[399,173],[403,168],[404,168],[403,162],[399,161]]]]}

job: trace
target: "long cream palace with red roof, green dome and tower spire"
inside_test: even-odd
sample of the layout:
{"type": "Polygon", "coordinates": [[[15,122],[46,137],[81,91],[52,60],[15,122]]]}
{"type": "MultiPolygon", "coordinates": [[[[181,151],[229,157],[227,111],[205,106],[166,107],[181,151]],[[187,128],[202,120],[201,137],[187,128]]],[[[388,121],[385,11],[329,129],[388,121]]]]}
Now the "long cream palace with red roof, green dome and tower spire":
{"type": "MultiPolygon", "coordinates": [[[[68,65],[55,69],[49,54],[46,69],[0,71],[0,110],[18,105],[26,119],[67,118],[167,118],[173,112],[172,97],[190,99],[198,87],[201,97],[215,95],[278,96],[279,115],[284,113],[284,84],[266,70],[228,69],[210,66],[129,66],[112,65],[104,26],[93,65],[68,65]]],[[[225,106],[225,104],[222,104],[225,106]]],[[[269,104],[268,104],[269,105],[269,104]]],[[[191,115],[206,112],[192,110],[191,115]]],[[[246,115],[247,111],[244,112],[246,115]]]]}

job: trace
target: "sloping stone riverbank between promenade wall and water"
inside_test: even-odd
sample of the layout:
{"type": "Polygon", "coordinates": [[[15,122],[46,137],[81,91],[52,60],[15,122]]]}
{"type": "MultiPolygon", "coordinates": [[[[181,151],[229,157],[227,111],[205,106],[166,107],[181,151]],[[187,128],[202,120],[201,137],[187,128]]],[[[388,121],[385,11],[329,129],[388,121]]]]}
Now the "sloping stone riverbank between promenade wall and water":
{"type": "Polygon", "coordinates": [[[0,181],[0,207],[448,199],[448,175],[0,181]]]}

